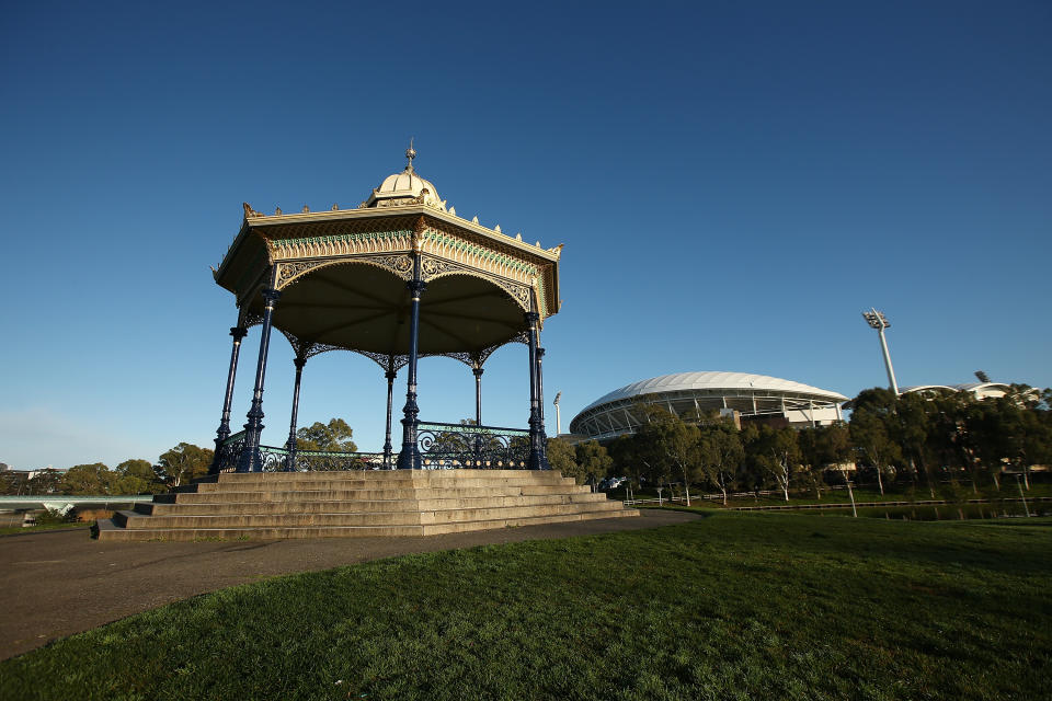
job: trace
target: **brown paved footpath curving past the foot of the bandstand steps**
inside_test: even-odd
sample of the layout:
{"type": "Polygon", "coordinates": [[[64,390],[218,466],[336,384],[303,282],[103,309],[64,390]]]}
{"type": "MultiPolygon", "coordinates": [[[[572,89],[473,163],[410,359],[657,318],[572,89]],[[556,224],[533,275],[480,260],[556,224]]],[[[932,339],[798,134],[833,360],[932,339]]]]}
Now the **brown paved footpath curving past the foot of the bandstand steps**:
{"type": "Polygon", "coordinates": [[[99,542],[88,528],[0,537],[0,659],[197,594],[262,577],[416,552],[614,533],[683,524],[682,512],[639,518],[414,538],[99,542]]]}

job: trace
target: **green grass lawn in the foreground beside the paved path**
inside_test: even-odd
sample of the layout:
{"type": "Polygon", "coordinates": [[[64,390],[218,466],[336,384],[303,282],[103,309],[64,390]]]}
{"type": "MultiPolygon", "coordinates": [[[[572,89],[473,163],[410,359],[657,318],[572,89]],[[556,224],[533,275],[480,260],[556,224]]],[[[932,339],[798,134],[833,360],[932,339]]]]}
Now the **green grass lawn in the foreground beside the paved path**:
{"type": "Polygon", "coordinates": [[[195,597],[0,699],[1049,699],[1052,519],[717,513],[195,597]]]}

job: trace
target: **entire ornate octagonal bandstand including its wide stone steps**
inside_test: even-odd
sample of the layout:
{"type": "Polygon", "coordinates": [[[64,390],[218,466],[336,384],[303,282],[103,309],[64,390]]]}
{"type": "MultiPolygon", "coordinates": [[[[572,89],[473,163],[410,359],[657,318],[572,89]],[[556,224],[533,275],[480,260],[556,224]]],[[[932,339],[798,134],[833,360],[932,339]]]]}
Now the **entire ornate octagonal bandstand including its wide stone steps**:
{"type": "MultiPolygon", "coordinates": [[[[409,163],[355,209],[262,215],[244,221],[216,281],[233,292],[238,324],[210,473],[150,504],[99,521],[102,540],[285,539],[432,536],[469,530],[638,516],[548,469],[538,340],[559,311],[561,246],[457,216],[409,163]],[[238,355],[259,324],[260,354],[244,430],[230,433],[238,355]],[[271,332],[295,350],[288,440],[262,445],[271,332]],[[529,425],[482,424],[482,372],[492,353],[523,343],[529,425]],[[307,360],[350,350],[387,378],[382,452],[299,450],[296,413],[307,360]],[[456,358],[471,368],[472,425],[418,414],[416,361],[456,358]],[[391,444],[395,380],[405,369],[402,443],[391,444]]],[[[525,402],[524,402],[525,404],[525,402]]],[[[524,406],[525,409],[525,406],[524,406]]]]}

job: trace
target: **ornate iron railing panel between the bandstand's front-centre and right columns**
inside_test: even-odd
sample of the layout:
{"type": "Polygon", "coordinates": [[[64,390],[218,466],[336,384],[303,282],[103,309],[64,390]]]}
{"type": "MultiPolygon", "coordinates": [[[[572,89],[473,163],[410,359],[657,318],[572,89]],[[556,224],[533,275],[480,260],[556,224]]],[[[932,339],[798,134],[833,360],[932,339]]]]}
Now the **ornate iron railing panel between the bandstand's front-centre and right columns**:
{"type": "Polygon", "coordinates": [[[529,432],[464,424],[420,422],[416,447],[425,470],[525,470],[529,432]]]}

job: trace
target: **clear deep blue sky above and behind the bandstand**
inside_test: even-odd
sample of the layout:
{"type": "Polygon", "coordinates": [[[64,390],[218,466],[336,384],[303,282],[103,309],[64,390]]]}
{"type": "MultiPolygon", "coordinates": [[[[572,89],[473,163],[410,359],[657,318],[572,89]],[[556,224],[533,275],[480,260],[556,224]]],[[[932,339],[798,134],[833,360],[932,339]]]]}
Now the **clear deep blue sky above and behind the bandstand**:
{"type": "MultiPolygon", "coordinates": [[[[224,4],[2,11],[0,461],[210,446],[236,310],[208,266],[241,203],[356,205],[410,136],[458,214],[565,243],[549,433],[557,391],[565,429],[668,372],[882,384],[870,306],[901,384],[1052,384],[1047,1],[224,4]]],[[[526,371],[491,359],[485,423],[526,425],[526,371]]],[[[466,366],[420,374],[422,418],[473,414],[466,366]]],[[[319,356],[300,423],[379,449],[385,391],[319,356]]]]}

